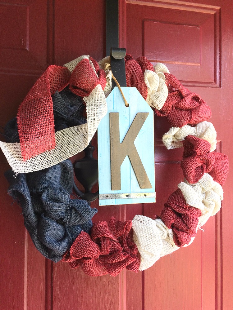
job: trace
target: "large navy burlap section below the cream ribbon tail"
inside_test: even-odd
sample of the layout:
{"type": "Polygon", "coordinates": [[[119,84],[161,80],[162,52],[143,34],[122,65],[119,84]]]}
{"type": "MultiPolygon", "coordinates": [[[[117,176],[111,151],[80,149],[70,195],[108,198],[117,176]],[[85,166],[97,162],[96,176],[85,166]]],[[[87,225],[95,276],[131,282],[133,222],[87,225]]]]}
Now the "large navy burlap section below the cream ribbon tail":
{"type": "Polygon", "coordinates": [[[71,199],[73,169],[70,160],[45,170],[20,173],[14,178],[6,172],[8,193],[17,200],[24,223],[36,248],[55,262],[83,230],[89,233],[97,209],[87,201],[71,199]]]}

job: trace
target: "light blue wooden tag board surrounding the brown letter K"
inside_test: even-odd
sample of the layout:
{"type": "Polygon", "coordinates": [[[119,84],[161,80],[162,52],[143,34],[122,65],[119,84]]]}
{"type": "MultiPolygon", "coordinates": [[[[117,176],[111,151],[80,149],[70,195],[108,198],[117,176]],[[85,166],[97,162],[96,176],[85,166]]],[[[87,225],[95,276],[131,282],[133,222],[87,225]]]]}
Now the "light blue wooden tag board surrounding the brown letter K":
{"type": "Polygon", "coordinates": [[[98,183],[100,206],[155,202],[154,113],[135,87],[121,87],[121,89],[129,103],[129,107],[127,108],[125,106],[125,102],[118,87],[114,87],[107,97],[107,114],[103,117],[98,126],[98,183]],[[126,156],[121,164],[121,189],[112,190],[109,113],[119,113],[120,143],[122,143],[136,114],[140,112],[149,114],[134,144],[152,188],[140,188],[130,159],[126,156]],[[128,198],[126,198],[126,195],[128,198]],[[107,199],[104,199],[106,197],[107,199]],[[114,197],[114,199],[109,199],[111,197],[114,197]],[[121,197],[121,199],[115,199],[115,197],[121,197]]]}

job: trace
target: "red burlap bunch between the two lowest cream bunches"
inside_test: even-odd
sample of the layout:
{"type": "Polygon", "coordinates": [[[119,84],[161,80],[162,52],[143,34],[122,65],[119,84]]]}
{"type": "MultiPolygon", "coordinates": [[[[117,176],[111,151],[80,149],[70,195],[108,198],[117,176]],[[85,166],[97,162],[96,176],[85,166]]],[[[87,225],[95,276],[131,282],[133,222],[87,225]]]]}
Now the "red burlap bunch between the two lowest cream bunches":
{"type": "Polygon", "coordinates": [[[168,228],[172,228],[174,242],[181,247],[189,244],[196,236],[198,217],[201,211],[189,206],[180,189],[170,195],[161,212],[161,219],[168,228]]]}

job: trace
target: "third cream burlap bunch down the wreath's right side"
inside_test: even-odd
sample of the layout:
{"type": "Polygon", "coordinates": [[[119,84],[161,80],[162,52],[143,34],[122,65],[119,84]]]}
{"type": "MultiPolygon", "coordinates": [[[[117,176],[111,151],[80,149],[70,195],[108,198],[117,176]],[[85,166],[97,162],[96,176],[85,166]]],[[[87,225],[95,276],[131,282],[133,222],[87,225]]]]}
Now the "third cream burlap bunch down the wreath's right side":
{"type": "Polygon", "coordinates": [[[178,184],[187,204],[201,210],[198,227],[203,226],[210,216],[217,214],[223,200],[222,186],[211,175],[205,173],[196,184],[187,180],[178,184]]]}

